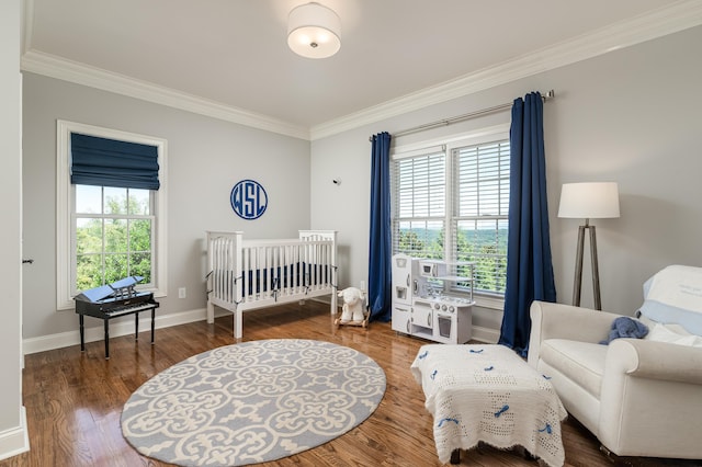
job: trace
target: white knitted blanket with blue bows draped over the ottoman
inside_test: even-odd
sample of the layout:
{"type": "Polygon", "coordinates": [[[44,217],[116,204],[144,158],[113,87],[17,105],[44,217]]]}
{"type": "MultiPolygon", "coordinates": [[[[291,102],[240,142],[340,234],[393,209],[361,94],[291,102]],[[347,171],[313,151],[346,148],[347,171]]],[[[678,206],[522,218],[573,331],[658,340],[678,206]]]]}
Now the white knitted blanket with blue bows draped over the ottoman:
{"type": "Polygon", "coordinates": [[[563,466],[561,421],[567,412],[547,376],[503,345],[423,345],[411,365],[434,418],[441,463],[479,441],[522,446],[548,466],[563,466]]]}

